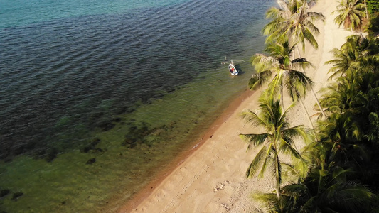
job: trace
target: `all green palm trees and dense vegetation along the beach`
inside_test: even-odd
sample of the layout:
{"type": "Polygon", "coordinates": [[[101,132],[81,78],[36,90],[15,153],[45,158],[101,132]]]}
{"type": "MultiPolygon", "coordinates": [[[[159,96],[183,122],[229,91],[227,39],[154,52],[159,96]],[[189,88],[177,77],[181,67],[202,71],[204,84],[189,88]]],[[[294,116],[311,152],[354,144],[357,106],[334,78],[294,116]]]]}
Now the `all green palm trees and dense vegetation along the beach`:
{"type": "MultiPolygon", "coordinates": [[[[368,8],[373,2],[377,1],[367,0],[368,8]]],[[[269,82],[268,89],[262,92],[259,111],[243,114],[247,121],[265,129],[265,133],[241,135],[249,148],[260,148],[246,175],[258,173],[258,177],[263,177],[266,171],[271,171],[276,183],[274,192],[254,197],[262,202],[265,212],[378,212],[379,40],[373,37],[376,33],[373,27],[368,27],[367,37],[351,35],[340,49],[332,50],[334,58],[326,62],[333,65],[329,70],[331,82],[324,88],[320,101],[326,116],[319,119],[315,129],[290,127],[286,119],[288,110],[302,101],[312,85],[305,72],[297,70],[305,69],[309,62],[300,56],[295,58],[292,50],[294,45],[308,39],[317,48],[312,33],[319,31],[312,22],[315,18],[323,21],[324,16],[307,12],[305,0],[278,3],[279,8],[267,11],[271,21],[263,29],[268,35],[269,55],[253,56],[257,74],[249,82],[250,89],[269,82]],[[311,28],[301,26],[301,22],[311,28]],[[306,33],[291,31],[291,23],[301,26],[306,33]],[[294,101],[286,110],[279,104],[284,88],[294,101]],[[294,138],[304,141],[302,151],[293,146],[294,138]],[[291,157],[291,162],[284,162],[284,155],[291,157]],[[285,179],[286,176],[292,178],[285,179]]],[[[343,0],[335,12],[338,25],[359,31],[366,18],[365,2],[343,0]]],[[[378,20],[371,11],[370,16],[370,21],[378,20]]],[[[304,50],[305,46],[302,47],[304,50]]]]}

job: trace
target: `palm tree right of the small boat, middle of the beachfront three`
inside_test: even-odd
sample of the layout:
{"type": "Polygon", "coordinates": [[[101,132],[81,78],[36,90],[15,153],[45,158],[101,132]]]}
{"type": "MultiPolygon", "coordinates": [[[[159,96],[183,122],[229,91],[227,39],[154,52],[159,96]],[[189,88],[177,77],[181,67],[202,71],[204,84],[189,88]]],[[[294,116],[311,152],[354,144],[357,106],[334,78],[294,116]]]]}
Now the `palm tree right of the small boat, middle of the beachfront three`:
{"type": "MultiPolygon", "coordinates": [[[[280,97],[283,98],[283,89],[285,88],[292,101],[304,97],[306,90],[311,89],[313,82],[304,72],[300,72],[296,68],[310,67],[311,63],[305,58],[290,60],[293,50],[294,46],[289,46],[288,40],[284,40],[283,43],[268,43],[265,51],[269,55],[255,54],[252,57],[252,65],[255,66],[257,73],[252,75],[249,81],[250,89],[258,89],[271,79],[267,91],[262,95],[274,98],[280,94],[280,97]],[[272,77],[273,75],[274,77],[272,77]]],[[[284,104],[283,99],[282,104],[284,104]]],[[[301,104],[306,111],[304,103],[301,102],[301,104]]],[[[306,114],[313,127],[308,111],[306,114]]]]}

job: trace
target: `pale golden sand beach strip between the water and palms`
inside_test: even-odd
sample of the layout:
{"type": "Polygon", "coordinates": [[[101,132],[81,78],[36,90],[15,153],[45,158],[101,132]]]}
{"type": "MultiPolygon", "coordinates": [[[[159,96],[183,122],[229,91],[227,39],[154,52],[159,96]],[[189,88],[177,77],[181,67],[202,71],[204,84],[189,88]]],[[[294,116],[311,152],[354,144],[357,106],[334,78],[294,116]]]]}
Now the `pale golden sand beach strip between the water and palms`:
{"type": "MultiPolygon", "coordinates": [[[[331,12],[337,5],[336,0],[319,0],[311,8],[326,17],[325,23],[316,24],[320,30],[316,37],[319,49],[314,50],[308,45],[305,53],[305,58],[314,65],[314,69],[306,70],[306,74],[314,80],[315,92],[328,84],[331,65],[324,65],[324,62],[333,58],[330,51],[340,48],[346,36],[351,35],[333,21],[336,14],[331,12]]],[[[256,92],[247,90],[241,94],[205,133],[201,146],[179,162],[164,179],[149,185],[117,212],[256,212],[259,205],[251,199],[251,193],[272,191],[274,185],[267,178],[245,178],[247,166],[257,151],[246,151],[247,144],[238,135],[257,133],[257,129],[241,119],[240,113],[244,109],[255,111],[261,92],[261,89],[256,92]]],[[[317,96],[321,94],[317,93],[317,96]]],[[[304,102],[309,114],[316,114],[316,101],[311,92],[304,102]]],[[[290,124],[294,126],[310,126],[300,104],[292,109],[290,117],[290,124]]]]}

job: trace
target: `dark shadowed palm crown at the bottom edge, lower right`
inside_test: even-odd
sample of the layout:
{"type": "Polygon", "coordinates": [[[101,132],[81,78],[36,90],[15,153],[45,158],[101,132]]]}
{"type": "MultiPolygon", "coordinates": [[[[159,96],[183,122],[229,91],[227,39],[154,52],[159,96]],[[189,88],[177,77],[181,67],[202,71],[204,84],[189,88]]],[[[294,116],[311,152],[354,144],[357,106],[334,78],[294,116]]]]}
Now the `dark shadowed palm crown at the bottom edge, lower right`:
{"type": "Polygon", "coordinates": [[[331,163],[326,168],[311,169],[304,183],[284,186],[282,194],[293,205],[289,212],[370,212],[373,193],[357,182],[347,181],[348,173],[351,170],[331,163]]]}

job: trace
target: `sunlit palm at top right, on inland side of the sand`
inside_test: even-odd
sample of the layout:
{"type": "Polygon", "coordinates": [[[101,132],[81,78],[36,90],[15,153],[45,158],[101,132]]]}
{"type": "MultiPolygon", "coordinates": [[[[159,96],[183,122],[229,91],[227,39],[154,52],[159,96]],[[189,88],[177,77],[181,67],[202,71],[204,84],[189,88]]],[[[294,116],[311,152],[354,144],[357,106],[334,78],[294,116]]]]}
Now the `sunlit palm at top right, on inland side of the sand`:
{"type": "Polygon", "coordinates": [[[341,0],[336,11],[333,11],[333,13],[338,13],[338,16],[334,18],[334,22],[338,26],[343,25],[346,29],[350,28],[351,31],[360,29],[362,18],[365,16],[363,9],[364,6],[361,0],[341,0]]]}

